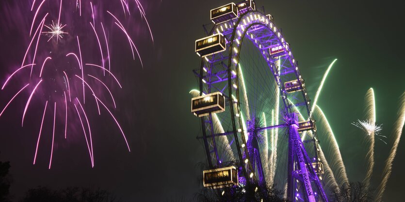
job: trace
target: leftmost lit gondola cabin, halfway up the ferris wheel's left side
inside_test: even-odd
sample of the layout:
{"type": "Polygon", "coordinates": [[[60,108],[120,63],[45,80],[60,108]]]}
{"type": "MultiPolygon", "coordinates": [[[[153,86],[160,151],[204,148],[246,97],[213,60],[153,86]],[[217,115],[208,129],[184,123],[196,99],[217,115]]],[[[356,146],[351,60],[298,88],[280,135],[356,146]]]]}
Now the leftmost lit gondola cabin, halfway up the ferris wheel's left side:
{"type": "Polygon", "coordinates": [[[225,112],[225,97],[221,92],[195,97],[191,100],[191,112],[197,117],[225,112]]]}

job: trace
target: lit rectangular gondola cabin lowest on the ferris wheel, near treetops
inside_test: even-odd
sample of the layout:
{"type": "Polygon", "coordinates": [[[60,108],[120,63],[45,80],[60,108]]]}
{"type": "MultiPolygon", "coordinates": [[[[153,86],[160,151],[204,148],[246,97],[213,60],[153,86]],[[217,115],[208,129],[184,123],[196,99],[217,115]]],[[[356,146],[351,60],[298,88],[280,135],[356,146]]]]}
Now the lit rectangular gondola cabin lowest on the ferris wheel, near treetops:
{"type": "Polygon", "coordinates": [[[238,170],[235,166],[203,171],[203,175],[204,187],[207,188],[224,188],[239,185],[238,170]]]}

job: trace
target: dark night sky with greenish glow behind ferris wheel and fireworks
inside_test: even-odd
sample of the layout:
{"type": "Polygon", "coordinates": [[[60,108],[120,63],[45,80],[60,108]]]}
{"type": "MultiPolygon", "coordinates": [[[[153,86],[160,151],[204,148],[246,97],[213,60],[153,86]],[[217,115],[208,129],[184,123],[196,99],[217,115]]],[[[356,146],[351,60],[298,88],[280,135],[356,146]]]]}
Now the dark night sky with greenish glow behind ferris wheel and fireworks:
{"type": "MultiPolygon", "coordinates": [[[[1,1],[1,8],[5,2],[7,0],[1,1]]],[[[0,160],[11,161],[14,178],[11,192],[16,199],[36,186],[102,188],[125,201],[191,199],[202,187],[197,182],[201,172],[197,163],[205,160],[203,147],[195,139],[200,125],[199,119],[190,113],[191,96],[188,94],[197,87],[192,70],[199,68],[200,63],[194,53],[194,41],[204,37],[201,25],[210,23],[209,11],[228,2],[145,1],[155,43],[153,47],[147,37],[147,27],[139,27],[142,30],[135,43],[144,60],[144,69],[131,60],[127,44],[113,45],[112,58],[121,59],[115,59],[112,66],[119,67],[115,71],[119,69],[117,74],[123,86],[115,92],[118,105],[113,113],[128,137],[130,153],[119,130],[109,122],[111,120],[95,115],[90,118],[94,134],[94,168],[91,168],[86,146],[79,138],[55,147],[51,170],[48,170],[49,147],[40,149],[38,162],[32,165],[43,105],[37,106],[41,110],[32,110],[24,128],[20,127],[20,117],[25,98],[10,105],[0,117],[0,160]]],[[[277,27],[283,29],[312,99],[327,66],[338,58],[318,105],[334,130],[349,180],[362,181],[367,145],[363,134],[350,123],[364,116],[364,96],[373,87],[377,123],[383,124],[384,135],[390,137],[392,134],[398,98],[405,90],[404,1],[257,0],[256,4],[258,7],[263,5],[266,13],[274,16],[277,27]]],[[[32,17],[31,13],[29,15],[32,17]]],[[[1,22],[9,17],[0,14],[1,22]]],[[[3,29],[0,31],[0,78],[3,83],[4,75],[20,64],[27,46],[26,40],[21,38],[27,37],[4,30],[11,29],[9,26],[0,26],[3,29]]],[[[10,95],[0,92],[1,109],[10,95]]],[[[47,121],[51,123],[52,120],[47,121]]],[[[376,140],[374,188],[381,180],[390,138],[388,143],[376,140]]],[[[327,150],[326,145],[323,149],[327,150]]],[[[403,200],[404,158],[405,142],[402,141],[383,198],[385,201],[403,200]]]]}

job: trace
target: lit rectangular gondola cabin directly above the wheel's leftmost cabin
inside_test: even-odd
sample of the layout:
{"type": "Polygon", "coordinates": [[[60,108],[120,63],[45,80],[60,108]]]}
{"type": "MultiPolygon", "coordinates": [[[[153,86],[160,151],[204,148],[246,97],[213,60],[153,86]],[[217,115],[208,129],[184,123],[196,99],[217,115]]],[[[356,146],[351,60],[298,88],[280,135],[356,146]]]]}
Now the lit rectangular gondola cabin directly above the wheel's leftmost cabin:
{"type": "Polygon", "coordinates": [[[227,41],[222,33],[195,40],[195,53],[200,57],[211,56],[227,50],[227,41]]]}

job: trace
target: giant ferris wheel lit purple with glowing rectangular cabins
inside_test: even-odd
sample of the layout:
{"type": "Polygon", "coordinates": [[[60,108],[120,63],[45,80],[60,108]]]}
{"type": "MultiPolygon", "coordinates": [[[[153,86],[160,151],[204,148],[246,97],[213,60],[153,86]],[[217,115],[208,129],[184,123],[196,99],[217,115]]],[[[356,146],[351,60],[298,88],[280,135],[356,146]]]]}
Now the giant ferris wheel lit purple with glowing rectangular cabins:
{"type": "Polygon", "coordinates": [[[195,41],[201,65],[191,91],[209,167],[204,187],[266,201],[275,186],[289,201],[327,201],[310,100],[282,30],[253,0],[212,9],[211,21],[195,41]]]}

